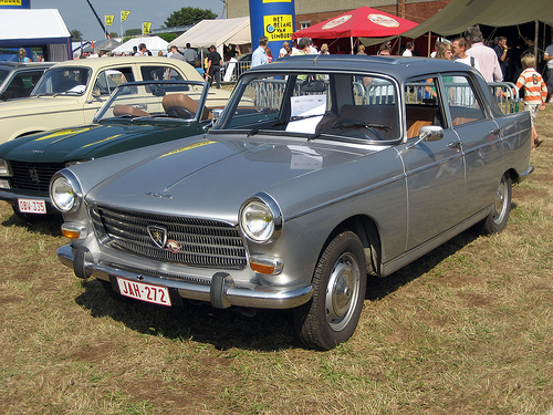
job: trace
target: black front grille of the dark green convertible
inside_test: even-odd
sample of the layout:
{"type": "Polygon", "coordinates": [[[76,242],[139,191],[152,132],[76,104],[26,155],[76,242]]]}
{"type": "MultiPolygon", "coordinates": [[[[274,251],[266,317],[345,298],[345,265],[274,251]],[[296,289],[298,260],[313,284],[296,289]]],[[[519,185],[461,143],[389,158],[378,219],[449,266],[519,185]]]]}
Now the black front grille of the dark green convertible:
{"type": "Polygon", "coordinates": [[[50,179],[55,172],[65,167],[64,163],[10,162],[13,176],[11,187],[20,190],[49,193],[50,179]]]}

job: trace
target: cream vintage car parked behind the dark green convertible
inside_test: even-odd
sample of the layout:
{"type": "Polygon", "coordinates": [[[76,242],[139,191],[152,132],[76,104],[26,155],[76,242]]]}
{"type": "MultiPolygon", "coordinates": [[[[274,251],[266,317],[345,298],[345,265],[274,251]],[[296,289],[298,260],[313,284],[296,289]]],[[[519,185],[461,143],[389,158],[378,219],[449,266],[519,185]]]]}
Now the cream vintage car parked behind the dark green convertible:
{"type": "Polygon", "coordinates": [[[31,96],[0,103],[0,143],[28,134],[90,124],[123,82],[204,81],[188,63],[169,58],[129,56],[54,64],[31,96]]]}

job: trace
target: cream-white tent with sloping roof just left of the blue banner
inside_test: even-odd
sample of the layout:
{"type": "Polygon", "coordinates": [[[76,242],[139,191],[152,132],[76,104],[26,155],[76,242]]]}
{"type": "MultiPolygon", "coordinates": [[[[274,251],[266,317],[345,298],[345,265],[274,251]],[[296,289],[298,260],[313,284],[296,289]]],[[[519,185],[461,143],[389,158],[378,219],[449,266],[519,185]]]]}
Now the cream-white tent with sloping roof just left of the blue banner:
{"type": "Polygon", "coordinates": [[[185,48],[187,43],[199,49],[215,44],[222,55],[223,44],[251,43],[250,18],[202,20],[171,42],[178,48],[185,48]]]}

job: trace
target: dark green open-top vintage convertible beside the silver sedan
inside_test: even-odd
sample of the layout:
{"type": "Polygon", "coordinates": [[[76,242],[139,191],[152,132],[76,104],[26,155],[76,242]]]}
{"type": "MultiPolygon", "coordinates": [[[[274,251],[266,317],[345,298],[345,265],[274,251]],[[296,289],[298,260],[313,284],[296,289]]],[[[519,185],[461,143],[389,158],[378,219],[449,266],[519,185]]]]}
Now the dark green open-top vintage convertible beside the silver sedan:
{"type": "Polygon", "coordinates": [[[202,134],[227,91],[196,81],[122,84],[93,124],[32,134],[0,145],[0,200],[25,220],[56,214],[49,198],[53,174],[66,166],[202,134]]]}

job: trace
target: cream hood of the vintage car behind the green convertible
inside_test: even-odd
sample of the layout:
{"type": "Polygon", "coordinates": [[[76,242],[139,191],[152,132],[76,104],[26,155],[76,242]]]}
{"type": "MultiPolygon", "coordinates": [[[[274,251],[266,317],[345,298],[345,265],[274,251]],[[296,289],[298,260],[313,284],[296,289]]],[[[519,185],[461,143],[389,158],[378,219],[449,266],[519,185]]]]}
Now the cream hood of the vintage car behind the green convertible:
{"type": "Polygon", "coordinates": [[[0,120],[35,113],[82,110],[82,96],[31,96],[28,98],[0,102],[0,120]]]}

